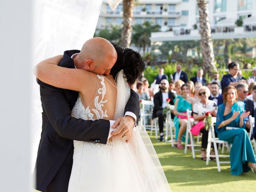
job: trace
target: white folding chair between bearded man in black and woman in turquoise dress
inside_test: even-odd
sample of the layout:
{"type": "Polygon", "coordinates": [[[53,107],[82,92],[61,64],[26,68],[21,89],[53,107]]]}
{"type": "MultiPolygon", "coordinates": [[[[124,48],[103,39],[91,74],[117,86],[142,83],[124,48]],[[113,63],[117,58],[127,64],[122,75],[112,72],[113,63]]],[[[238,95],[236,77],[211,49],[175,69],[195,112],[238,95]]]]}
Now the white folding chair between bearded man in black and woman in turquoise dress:
{"type": "MultiPolygon", "coordinates": [[[[174,105],[171,105],[171,110],[174,110],[174,105]]],[[[171,112],[168,111],[165,119],[165,131],[166,131],[165,140],[166,142],[171,142],[172,147],[174,147],[174,135],[175,135],[175,128],[174,128],[174,134],[172,132],[173,128],[174,128],[174,123],[172,121],[171,112]],[[170,133],[170,140],[168,140],[169,133],[170,133]]]]}

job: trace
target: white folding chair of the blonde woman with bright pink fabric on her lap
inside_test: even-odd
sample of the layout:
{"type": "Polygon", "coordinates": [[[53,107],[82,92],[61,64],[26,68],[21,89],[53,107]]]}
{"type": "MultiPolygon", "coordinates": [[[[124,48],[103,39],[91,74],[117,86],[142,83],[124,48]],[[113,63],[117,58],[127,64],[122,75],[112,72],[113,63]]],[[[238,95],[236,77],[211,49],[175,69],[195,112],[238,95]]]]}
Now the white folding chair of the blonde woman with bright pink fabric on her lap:
{"type": "Polygon", "coordinates": [[[191,133],[191,123],[190,123],[190,115],[192,114],[192,111],[188,110],[186,111],[187,118],[188,118],[188,123],[187,123],[187,128],[186,128],[186,140],[185,140],[185,148],[184,148],[184,153],[187,153],[188,147],[191,146],[192,149],[192,156],[193,159],[196,158],[195,156],[195,151],[201,151],[196,149],[195,146],[201,146],[200,144],[194,144],[194,136],[191,133]],[[188,137],[190,138],[190,144],[188,143],[188,137]]]}

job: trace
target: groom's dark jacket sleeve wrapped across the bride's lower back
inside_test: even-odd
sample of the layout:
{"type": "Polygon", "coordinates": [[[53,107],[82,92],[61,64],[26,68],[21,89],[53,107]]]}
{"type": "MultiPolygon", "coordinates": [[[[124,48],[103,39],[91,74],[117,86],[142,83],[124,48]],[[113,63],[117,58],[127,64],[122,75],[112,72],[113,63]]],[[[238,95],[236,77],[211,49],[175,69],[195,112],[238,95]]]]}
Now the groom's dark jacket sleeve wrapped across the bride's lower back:
{"type": "Polygon", "coordinates": [[[90,142],[100,140],[106,144],[110,129],[108,120],[82,120],[71,116],[70,106],[63,89],[45,84],[37,79],[43,112],[54,130],[63,138],[90,142]]]}

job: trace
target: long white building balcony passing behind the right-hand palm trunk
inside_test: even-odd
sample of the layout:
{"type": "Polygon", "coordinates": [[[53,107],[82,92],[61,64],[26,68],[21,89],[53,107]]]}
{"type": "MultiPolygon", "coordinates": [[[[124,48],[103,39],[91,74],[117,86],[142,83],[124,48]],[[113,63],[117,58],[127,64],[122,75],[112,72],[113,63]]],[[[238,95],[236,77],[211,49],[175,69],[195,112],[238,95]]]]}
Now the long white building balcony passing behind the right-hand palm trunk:
{"type": "MultiPolygon", "coordinates": [[[[244,24],[242,27],[230,26],[211,26],[212,39],[233,39],[256,37],[256,22],[244,24]]],[[[186,41],[200,40],[199,30],[186,27],[172,27],[172,31],[154,32],[150,37],[152,42],[158,41],[186,41]]]]}

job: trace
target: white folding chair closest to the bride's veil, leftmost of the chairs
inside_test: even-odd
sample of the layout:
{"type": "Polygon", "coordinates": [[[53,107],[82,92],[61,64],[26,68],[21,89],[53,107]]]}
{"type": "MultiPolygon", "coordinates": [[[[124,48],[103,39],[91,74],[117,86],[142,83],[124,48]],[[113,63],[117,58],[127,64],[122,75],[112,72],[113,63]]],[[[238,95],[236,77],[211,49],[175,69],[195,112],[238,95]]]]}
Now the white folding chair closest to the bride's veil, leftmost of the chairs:
{"type": "Polygon", "coordinates": [[[147,100],[142,100],[142,108],[140,109],[140,117],[142,120],[142,124],[145,127],[145,129],[150,129],[150,135],[152,136],[152,132],[153,130],[155,130],[155,134],[156,134],[156,139],[158,138],[158,118],[154,118],[151,122],[151,124],[148,124],[148,122],[146,121],[146,116],[149,116],[150,118],[152,118],[152,110],[150,112],[147,112],[145,110],[145,106],[151,106],[152,109],[154,107],[154,102],[153,101],[147,101],[147,100]]]}

